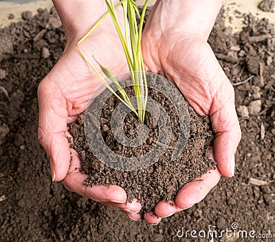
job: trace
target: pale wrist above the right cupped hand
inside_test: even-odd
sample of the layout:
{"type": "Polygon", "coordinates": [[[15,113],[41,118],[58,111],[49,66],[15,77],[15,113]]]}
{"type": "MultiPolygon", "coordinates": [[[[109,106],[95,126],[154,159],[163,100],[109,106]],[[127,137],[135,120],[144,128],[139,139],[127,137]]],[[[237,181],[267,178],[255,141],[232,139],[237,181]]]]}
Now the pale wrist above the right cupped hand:
{"type": "Polygon", "coordinates": [[[162,34],[189,34],[207,40],[224,0],[158,0],[150,22],[162,34]]]}

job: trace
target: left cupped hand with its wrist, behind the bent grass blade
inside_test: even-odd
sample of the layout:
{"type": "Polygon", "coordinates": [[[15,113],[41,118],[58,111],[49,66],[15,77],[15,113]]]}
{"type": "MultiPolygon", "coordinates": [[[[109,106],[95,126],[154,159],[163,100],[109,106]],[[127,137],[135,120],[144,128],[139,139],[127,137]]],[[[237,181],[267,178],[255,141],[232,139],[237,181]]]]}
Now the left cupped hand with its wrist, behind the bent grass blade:
{"type": "MultiPolygon", "coordinates": [[[[69,148],[67,124],[85,111],[87,102],[101,83],[76,49],[76,43],[91,25],[107,12],[104,1],[54,1],[67,36],[67,45],[61,59],[43,79],[38,89],[39,140],[50,157],[52,179],[62,181],[65,188],[84,197],[100,201],[111,208],[120,209],[132,219],[140,219],[140,203],[125,203],[126,192],[118,186],[83,186],[85,175],[80,173],[80,160],[69,148]],[[72,153],[72,162],[70,162],[72,153]]],[[[122,10],[118,17],[123,20],[122,10]]],[[[107,67],[114,75],[127,72],[126,59],[111,17],[107,17],[89,36],[81,49],[92,60],[107,67]],[[110,58],[109,56],[115,56],[110,58]]],[[[103,74],[102,74],[103,75],[103,74]]]]}

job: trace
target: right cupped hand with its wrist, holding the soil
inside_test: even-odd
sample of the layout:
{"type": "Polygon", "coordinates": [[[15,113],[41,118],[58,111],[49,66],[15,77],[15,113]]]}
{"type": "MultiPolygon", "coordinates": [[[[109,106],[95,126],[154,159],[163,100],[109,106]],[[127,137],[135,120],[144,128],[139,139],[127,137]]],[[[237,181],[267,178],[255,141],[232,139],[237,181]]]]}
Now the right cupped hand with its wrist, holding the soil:
{"type": "Polygon", "coordinates": [[[217,162],[216,170],[181,188],[173,206],[159,201],[154,212],[144,214],[148,223],[199,203],[221,174],[234,175],[234,153],[241,139],[234,89],[207,43],[221,5],[221,0],[159,0],[146,22],[142,36],[146,67],[155,73],[161,70],[199,115],[210,115],[215,131],[212,157],[217,162]]]}

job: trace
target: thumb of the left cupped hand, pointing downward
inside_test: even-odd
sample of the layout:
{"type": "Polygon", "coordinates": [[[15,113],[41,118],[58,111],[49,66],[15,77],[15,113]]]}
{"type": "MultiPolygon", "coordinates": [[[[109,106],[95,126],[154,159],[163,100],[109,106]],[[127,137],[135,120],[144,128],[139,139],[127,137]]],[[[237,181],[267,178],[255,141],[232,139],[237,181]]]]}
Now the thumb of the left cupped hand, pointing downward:
{"type": "Polygon", "coordinates": [[[45,78],[38,89],[39,141],[50,157],[52,179],[61,181],[69,168],[66,100],[55,83],[45,78]]]}

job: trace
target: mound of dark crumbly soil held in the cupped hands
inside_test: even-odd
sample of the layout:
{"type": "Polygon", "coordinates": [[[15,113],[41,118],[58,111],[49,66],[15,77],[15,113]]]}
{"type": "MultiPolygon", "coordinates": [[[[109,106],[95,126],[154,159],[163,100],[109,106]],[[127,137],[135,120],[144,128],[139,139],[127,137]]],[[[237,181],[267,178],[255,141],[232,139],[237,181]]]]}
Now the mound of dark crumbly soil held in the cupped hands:
{"type": "MultiPolygon", "coordinates": [[[[79,115],[80,121],[78,123],[70,125],[70,131],[74,139],[74,145],[72,145],[72,148],[74,148],[80,155],[81,170],[83,173],[89,175],[84,182],[85,186],[110,184],[121,186],[124,190],[126,190],[129,201],[131,201],[131,199],[138,199],[138,201],[140,201],[142,204],[141,212],[153,210],[157,202],[161,200],[171,201],[175,199],[179,189],[186,183],[200,177],[214,168],[214,164],[211,162],[208,155],[208,148],[213,140],[213,132],[210,127],[209,118],[200,117],[197,113],[195,113],[194,109],[190,107],[190,104],[184,101],[184,99],[177,99],[175,102],[171,102],[165,94],[158,91],[169,89],[172,96],[177,96],[176,94],[179,93],[179,91],[177,91],[176,87],[173,87],[173,84],[168,82],[168,80],[166,80],[166,83],[163,83],[162,79],[157,78],[154,74],[149,74],[147,78],[149,86],[152,87],[153,82],[160,86],[158,89],[149,88],[148,97],[153,98],[153,100],[157,101],[157,103],[165,109],[169,116],[170,122],[163,123],[164,117],[159,117],[159,120],[162,122],[162,126],[170,126],[172,130],[171,135],[164,133],[165,136],[170,135],[170,143],[164,155],[159,157],[159,159],[151,166],[148,166],[148,168],[127,172],[125,171],[125,168],[127,168],[125,164],[122,164],[121,166],[124,168],[123,170],[106,166],[98,160],[96,155],[91,152],[86,140],[86,135],[91,135],[90,133],[96,131],[96,125],[93,124],[91,128],[87,129],[87,131],[90,132],[89,134],[87,134],[87,132],[85,133],[83,121],[84,113],[79,115]],[[188,115],[188,123],[186,123],[186,125],[190,126],[190,131],[189,129],[186,130],[185,135],[186,137],[189,137],[188,141],[179,157],[175,160],[172,159],[172,155],[175,150],[175,146],[177,145],[177,140],[179,140],[179,133],[182,131],[179,127],[179,116],[177,114],[177,109],[173,103],[180,103],[179,105],[181,107],[186,107],[185,109],[190,113],[180,113],[181,116],[188,115]]],[[[131,85],[130,82],[131,80],[129,80],[128,85],[131,85]]],[[[126,87],[125,90],[129,98],[134,96],[132,87],[126,87]]],[[[104,102],[102,100],[104,96],[110,96],[109,90],[105,90],[101,96],[92,102],[92,107],[89,107],[88,112],[89,110],[98,110],[98,106],[100,106],[98,103],[104,102]]],[[[140,157],[145,155],[150,152],[152,148],[154,148],[153,146],[155,146],[158,142],[158,121],[153,115],[147,113],[144,122],[144,124],[148,127],[148,136],[146,135],[148,138],[146,141],[140,146],[124,146],[115,139],[111,129],[111,117],[115,108],[118,107],[118,104],[120,104],[120,100],[113,95],[102,107],[100,115],[100,131],[104,142],[111,149],[111,151],[122,157],[140,157]]],[[[126,118],[124,118],[125,135],[130,139],[134,139],[137,136],[137,127],[139,124],[140,122],[134,113],[127,115],[126,118]]],[[[92,142],[96,142],[96,144],[98,144],[96,132],[89,138],[89,140],[92,140],[92,142]]],[[[100,147],[100,153],[109,152],[110,151],[107,149],[100,147]]],[[[149,159],[152,159],[152,157],[149,157],[149,159]]],[[[115,160],[115,167],[120,166],[118,162],[120,162],[119,159],[115,160]]],[[[124,161],[122,160],[121,163],[124,163],[124,161]]],[[[135,164],[130,162],[128,166],[134,165],[135,164]]],[[[131,169],[127,168],[127,170],[131,169]]]]}

